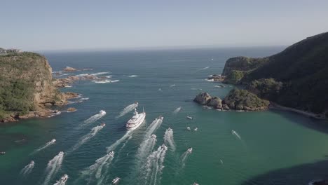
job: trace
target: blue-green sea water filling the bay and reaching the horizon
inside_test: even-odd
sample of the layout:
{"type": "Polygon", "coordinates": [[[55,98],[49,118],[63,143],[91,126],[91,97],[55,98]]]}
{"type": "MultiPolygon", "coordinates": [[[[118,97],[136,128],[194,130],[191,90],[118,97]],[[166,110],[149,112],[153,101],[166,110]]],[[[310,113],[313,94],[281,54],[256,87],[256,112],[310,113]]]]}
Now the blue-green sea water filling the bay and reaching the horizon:
{"type": "Polygon", "coordinates": [[[324,172],[328,168],[327,123],[277,110],[247,113],[205,110],[192,102],[201,91],[224,97],[233,88],[215,88],[219,83],[204,80],[210,74],[220,73],[228,57],[261,57],[280,50],[277,47],[43,53],[53,71],[66,66],[93,68],[90,73],[111,71],[102,75],[111,75],[112,80],[119,81],[77,81],[72,88],[62,90],[90,97],[67,106],[78,111],[1,125],[0,151],[6,151],[6,155],[0,156],[1,184],[55,184],[65,173],[69,175],[66,184],[110,184],[115,177],[121,177],[120,184],[231,185],[306,184],[311,179],[327,178],[324,172]],[[135,101],[139,102],[139,110],[144,107],[146,122],[127,134],[125,122],[132,112],[116,117],[135,101]],[[178,107],[181,110],[174,114],[178,107]],[[106,116],[84,123],[101,109],[107,111],[106,116]],[[157,141],[152,148],[145,135],[160,115],[164,121],[154,131],[157,141]],[[194,119],[188,120],[186,116],[194,119]],[[86,139],[90,130],[102,122],[107,125],[86,139]],[[197,127],[198,131],[188,131],[188,126],[197,127]],[[176,149],[167,144],[165,153],[156,152],[165,142],[168,127],[173,129],[176,149]],[[232,135],[231,130],[238,132],[240,138],[232,135]],[[53,138],[57,139],[55,144],[35,152],[53,138]],[[148,152],[139,149],[142,143],[149,146],[148,152]],[[108,146],[115,151],[114,158],[106,156],[108,146]],[[184,155],[189,147],[193,147],[193,152],[184,155]],[[60,151],[64,151],[62,164],[47,170],[48,161],[60,151]],[[96,163],[99,158],[106,160],[96,163]],[[35,161],[32,171],[20,174],[31,160],[35,161]]]}

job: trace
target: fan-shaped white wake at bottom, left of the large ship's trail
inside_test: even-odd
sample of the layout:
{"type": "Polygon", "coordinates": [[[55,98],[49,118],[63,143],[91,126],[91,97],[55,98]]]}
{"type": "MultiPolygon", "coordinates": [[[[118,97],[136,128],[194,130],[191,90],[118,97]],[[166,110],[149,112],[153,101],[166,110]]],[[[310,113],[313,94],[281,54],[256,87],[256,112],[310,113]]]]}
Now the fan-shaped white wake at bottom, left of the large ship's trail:
{"type": "Polygon", "coordinates": [[[83,172],[81,172],[81,177],[89,177],[88,179],[86,179],[89,183],[93,179],[97,179],[97,184],[102,184],[102,181],[106,177],[109,165],[111,164],[113,158],[113,151],[107,153],[101,158],[98,158],[97,160],[95,160],[95,163],[93,165],[90,165],[90,167],[87,167],[86,170],[83,170],[83,172]]]}

